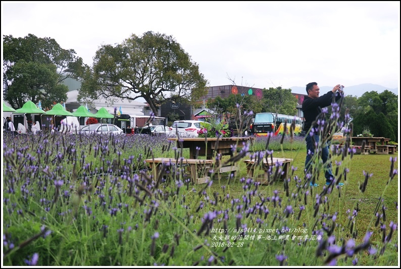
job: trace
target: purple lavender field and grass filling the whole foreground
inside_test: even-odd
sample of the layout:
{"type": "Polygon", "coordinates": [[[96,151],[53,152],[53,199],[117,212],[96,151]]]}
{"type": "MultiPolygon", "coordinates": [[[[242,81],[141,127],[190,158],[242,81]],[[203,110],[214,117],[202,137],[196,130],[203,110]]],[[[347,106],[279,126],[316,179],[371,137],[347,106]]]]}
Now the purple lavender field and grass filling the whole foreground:
{"type": "Polygon", "coordinates": [[[304,175],[303,138],[258,138],[233,153],[236,176],[193,185],[179,165],[148,171],[146,158],[179,163],[166,136],[3,138],[3,265],[399,265],[395,155],[334,146],[338,188],[319,166],[304,175]],[[278,164],[260,185],[249,155],[293,158],[291,173],[278,164]]]}

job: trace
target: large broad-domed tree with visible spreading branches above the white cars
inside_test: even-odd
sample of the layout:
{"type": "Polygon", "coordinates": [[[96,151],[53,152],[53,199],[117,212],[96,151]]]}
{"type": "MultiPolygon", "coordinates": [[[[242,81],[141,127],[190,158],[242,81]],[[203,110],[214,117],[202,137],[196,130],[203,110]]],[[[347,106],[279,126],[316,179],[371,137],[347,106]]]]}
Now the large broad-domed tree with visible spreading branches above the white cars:
{"type": "Polygon", "coordinates": [[[143,97],[155,115],[167,101],[195,104],[207,93],[207,80],[172,36],[132,34],[121,44],[103,45],[83,77],[79,100],[143,97]]]}

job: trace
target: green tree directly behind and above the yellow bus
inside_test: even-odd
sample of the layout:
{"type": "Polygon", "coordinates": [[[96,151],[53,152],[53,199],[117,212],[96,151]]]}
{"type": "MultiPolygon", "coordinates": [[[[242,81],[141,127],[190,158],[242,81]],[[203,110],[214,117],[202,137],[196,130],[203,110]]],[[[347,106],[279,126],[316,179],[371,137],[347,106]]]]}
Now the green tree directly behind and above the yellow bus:
{"type": "Polygon", "coordinates": [[[275,114],[296,115],[296,97],[291,94],[291,89],[281,87],[263,89],[263,110],[275,114]]]}

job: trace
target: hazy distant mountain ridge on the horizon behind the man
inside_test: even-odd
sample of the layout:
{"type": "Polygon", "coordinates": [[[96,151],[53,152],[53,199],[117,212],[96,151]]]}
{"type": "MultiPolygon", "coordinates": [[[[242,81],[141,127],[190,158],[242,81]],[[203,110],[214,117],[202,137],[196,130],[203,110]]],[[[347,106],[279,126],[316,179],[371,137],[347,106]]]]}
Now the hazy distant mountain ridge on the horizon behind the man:
{"type": "MultiPolygon", "coordinates": [[[[326,93],[329,90],[333,89],[333,86],[319,86],[320,88],[320,93],[326,93]]],[[[293,86],[290,87],[292,93],[302,93],[306,94],[305,86],[304,87],[298,87],[298,86],[293,86]]],[[[391,91],[395,95],[398,95],[398,88],[395,89],[389,89],[381,85],[377,84],[371,84],[371,83],[365,83],[365,84],[360,84],[356,86],[345,86],[344,87],[344,93],[345,95],[352,95],[352,96],[357,96],[361,97],[362,94],[368,91],[376,91],[377,93],[381,93],[385,90],[391,91]]],[[[320,94],[322,95],[322,94],[320,94]]]]}

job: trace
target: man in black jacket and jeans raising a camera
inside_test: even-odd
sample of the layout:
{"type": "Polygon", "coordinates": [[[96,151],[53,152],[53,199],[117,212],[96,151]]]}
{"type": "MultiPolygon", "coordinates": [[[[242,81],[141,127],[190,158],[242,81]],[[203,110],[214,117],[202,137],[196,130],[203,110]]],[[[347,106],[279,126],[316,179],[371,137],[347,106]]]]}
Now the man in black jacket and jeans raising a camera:
{"type": "MultiPolygon", "coordinates": [[[[323,107],[331,105],[334,94],[336,101],[341,98],[342,86],[338,84],[331,91],[328,91],[327,93],[319,97],[318,84],[316,82],[311,82],[307,84],[306,91],[308,93],[308,96],[305,96],[304,102],[302,103],[302,111],[304,113],[304,118],[305,118],[303,131],[305,131],[307,134],[306,136],[307,157],[305,160],[305,173],[312,174],[311,159],[315,153],[316,145],[319,143],[318,125],[317,123],[314,123],[314,125],[312,126],[312,123],[322,112],[323,107]],[[311,133],[313,137],[311,136],[311,133]]],[[[329,157],[329,147],[327,143],[322,144],[321,157],[323,160],[323,165],[325,166],[324,177],[326,178],[326,185],[329,185],[331,181],[334,179],[334,176],[331,170],[331,162],[330,161],[327,162],[327,159],[329,157]]],[[[344,185],[344,183],[338,183],[338,185],[342,186],[344,185]]],[[[317,187],[319,185],[311,181],[310,186],[317,187]]]]}

